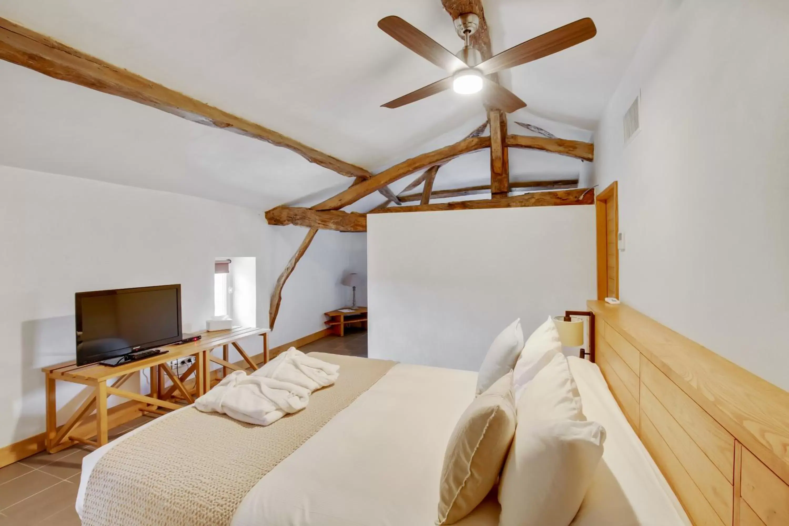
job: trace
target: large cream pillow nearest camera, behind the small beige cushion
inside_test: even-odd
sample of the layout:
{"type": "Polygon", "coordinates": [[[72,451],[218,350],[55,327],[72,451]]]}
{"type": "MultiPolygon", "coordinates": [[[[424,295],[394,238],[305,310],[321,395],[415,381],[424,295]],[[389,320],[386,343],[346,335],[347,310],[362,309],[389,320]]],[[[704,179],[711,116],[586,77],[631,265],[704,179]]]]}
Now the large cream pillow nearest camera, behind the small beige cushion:
{"type": "Polygon", "coordinates": [[[567,526],[603,456],[605,429],[588,422],[567,358],[554,358],[518,400],[518,429],[499,480],[499,526],[567,526]]]}

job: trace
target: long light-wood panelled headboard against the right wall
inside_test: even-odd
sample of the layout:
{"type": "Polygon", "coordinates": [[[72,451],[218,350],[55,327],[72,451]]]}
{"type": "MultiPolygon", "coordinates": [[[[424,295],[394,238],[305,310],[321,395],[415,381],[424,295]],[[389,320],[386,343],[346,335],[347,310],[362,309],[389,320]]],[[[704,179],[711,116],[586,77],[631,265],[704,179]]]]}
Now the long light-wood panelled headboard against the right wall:
{"type": "Polygon", "coordinates": [[[696,526],[789,524],[789,393],[626,306],[589,301],[596,363],[696,526]]]}

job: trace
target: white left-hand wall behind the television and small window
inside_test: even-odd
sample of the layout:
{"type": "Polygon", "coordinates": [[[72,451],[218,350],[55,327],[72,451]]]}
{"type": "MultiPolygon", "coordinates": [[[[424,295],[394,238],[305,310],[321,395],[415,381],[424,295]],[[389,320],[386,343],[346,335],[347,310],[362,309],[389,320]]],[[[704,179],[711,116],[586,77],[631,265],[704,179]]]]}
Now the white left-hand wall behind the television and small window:
{"type": "MultiPolygon", "coordinates": [[[[200,330],[213,315],[215,257],[254,257],[265,327],[275,279],[306,233],[244,207],[7,166],[0,188],[0,447],[44,431],[39,369],[75,356],[74,293],[181,283],[184,329],[200,330]]],[[[285,286],[272,346],[324,328],[323,312],[346,303],[339,280],[363,264],[350,258],[364,243],[318,233],[285,286]]],[[[260,353],[262,338],[242,345],[260,353]]],[[[58,389],[61,423],[80,390],[58,389]]]]}

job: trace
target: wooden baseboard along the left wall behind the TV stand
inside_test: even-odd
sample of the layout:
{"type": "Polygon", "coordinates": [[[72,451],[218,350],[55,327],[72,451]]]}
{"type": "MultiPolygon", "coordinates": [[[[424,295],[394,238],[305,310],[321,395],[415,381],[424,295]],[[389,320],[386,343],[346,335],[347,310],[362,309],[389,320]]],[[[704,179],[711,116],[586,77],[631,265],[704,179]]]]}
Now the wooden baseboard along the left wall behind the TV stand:
{"type": "MultiPolygon", "coordinates": [[[[318,332],[308,334],[303,338],[289,341],[283,345],[278,345],[273,349],[268,349],[268,356],[270,356],[270,358],[275,358],[277,355],[279,355],[279,353],[282,353],[291,347],[298,348],[301,347],[301,345],[307,345],[313,341],[320,340],[320,338],[325,338],[329,334],[331,334],[331,329],[319,330],[318,332]]],[[[250,357],[256,364],[263,363],[263,353],[250,357]]],[[[237,362],[236,365],[246,367],[247,363],[244,360],[241,360],[237,362]]],[[[211,371],[211,374],[216,375],[217,379],[219,379],[218,371],[211,371]]],[[[109,408],[107,410],[107,427],[111,429],[112,427],[117,427],[123,423],[136,419],[136,417],[142,414],[140,412],[140,408],[143,407],[145,407],[145,404],[141,402],[128,401],[109,408]]],[[[83,423],[80,423],[80,425],[74,429],[71,435],[76,435],[80,438],[90,438],[95,435],[95,415],[88,416],[88,418],[86,418],[83,423]]],[[[16,461],[21,461],[23,458],[30,457],[36,453],[39,453],[39,451],[45,450],[46,439],[46,433],[39,433],[39,435],[25,438],[24,440],[20,440],[19,442],[11,444],[10,446],[0,448],[0,468],[7,466],[8,464],[13,464],[16,461]]]]}

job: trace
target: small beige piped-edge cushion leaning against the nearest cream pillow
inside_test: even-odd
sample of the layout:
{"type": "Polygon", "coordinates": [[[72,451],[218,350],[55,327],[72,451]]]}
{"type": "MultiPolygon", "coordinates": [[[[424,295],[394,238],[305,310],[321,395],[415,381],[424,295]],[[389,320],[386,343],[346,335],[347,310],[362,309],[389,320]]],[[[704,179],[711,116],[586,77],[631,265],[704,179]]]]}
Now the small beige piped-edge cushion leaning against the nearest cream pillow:
{"type": "Polygon", "coordinates": [[[475,398],[454,427],[441,471],[436,524],[466,517],[491,491],[510,449],[515,420],[510,371],[475,398]]]}

